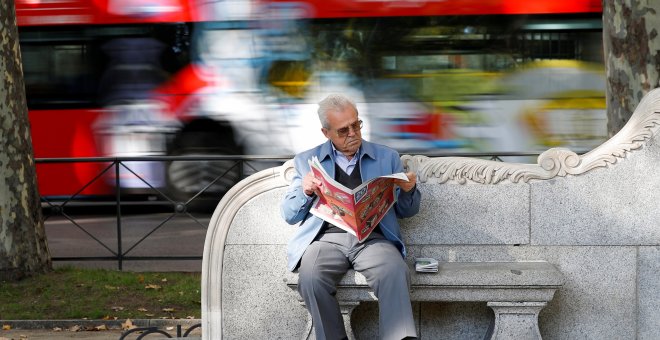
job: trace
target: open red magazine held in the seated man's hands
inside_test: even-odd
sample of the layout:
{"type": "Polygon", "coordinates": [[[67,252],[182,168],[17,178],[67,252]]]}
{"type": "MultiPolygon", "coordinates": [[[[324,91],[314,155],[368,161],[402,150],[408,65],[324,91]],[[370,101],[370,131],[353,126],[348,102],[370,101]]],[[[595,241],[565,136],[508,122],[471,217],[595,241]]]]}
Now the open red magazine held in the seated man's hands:
{"type": "Polygon", "coordinates": [[[323,169],[318,158],[309,161],[314,177],[321,180],[321,194],[310,212],[355,235],[362,242],[376,228],[397,199],[397,179],[408,180],[403,172],[376,177],[351,190],[323,169]]]}

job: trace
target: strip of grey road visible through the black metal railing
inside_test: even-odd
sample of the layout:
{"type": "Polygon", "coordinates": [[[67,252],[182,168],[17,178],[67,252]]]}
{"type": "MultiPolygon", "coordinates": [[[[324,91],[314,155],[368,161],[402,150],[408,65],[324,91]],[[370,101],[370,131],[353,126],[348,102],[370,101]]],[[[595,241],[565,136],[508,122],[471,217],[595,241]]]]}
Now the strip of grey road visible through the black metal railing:
{"type": "MultiPolygon", "coordinates": [[[[128,257],[198,257],[200,260],[124,261],[125,271],[201,271],[201,257],[209,215],[145,213],[123,215],[121,232],[114,215],[75,215],[48,218],[44,223],[48,248],[57,258],[112,257],[121,252],[128,257]],[[74,223],[75,222],[75,223],[74,223]],[[118,240],[120,239],[120,240],[118,240]],[[121,244],[121,251],[119,251],[121,244]]],[[[117,261],[54,261],[55,266],[118,269],[117,261]]]]}

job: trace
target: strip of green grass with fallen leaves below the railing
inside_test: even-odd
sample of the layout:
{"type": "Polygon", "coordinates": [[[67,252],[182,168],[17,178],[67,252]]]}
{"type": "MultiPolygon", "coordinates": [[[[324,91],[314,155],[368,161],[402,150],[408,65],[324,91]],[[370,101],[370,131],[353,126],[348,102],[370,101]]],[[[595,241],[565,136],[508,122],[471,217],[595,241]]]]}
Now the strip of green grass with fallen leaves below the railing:
{"type": "Polygon", "coordinates": [[[200,273],[58,268],[0,282],[0,320],[200,317],[200,273]]]}

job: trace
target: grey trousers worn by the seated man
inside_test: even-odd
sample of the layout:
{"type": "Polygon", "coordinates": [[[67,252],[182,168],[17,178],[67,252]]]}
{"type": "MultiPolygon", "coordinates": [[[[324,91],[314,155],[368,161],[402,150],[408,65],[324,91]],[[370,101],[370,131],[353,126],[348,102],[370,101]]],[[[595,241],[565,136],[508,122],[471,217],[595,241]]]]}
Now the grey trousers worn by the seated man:
{"type": "Polygon", "coordinates": [[[298,291],[312,316],[317,340],[346,338],[335,298],[337,282],[353,267],[367,279],[379,303],[379,337],[416,337],[410,273],[396,247],[373,233],[363,243],[348,233],[326,233],[310,244],[298,268],[298,291]]]}

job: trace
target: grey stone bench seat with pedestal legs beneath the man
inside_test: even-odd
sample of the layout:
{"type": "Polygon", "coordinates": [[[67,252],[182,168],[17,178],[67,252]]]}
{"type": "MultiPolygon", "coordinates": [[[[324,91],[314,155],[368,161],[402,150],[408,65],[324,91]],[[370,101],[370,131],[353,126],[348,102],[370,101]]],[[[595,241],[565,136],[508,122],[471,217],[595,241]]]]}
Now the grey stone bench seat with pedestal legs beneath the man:
{"type": "MultiPolygon", "coordinates": [[[[441,262],[437,273],[411,270],[412,301],[477,301],[486,302],[495,312],[488,339],[541,339],[538,315],[555,291],[563,284],[563,276],[555,266],[538,262],[441,262]]],[[[287,272],[284,282],[294,291],[298,275],[287,272]]],[[[353,270],[344,275],[337,286],[346,334],[355,339],[351,314],[363,301],[375,301],[362,274],[353,270]]],[[[301,304],[304,304],[299,297],[301,304]]],[[[314,334],[308,315],[305,339],[314,334]]]]}

